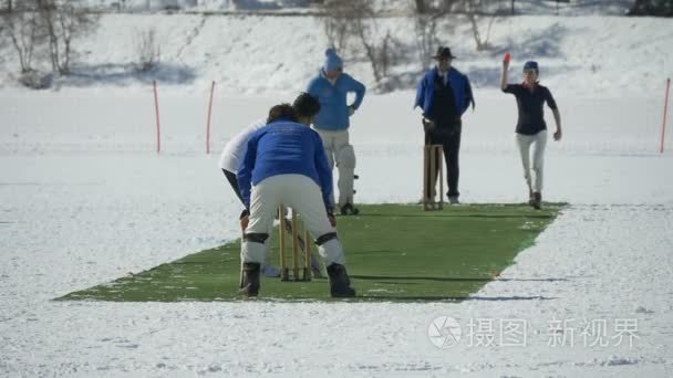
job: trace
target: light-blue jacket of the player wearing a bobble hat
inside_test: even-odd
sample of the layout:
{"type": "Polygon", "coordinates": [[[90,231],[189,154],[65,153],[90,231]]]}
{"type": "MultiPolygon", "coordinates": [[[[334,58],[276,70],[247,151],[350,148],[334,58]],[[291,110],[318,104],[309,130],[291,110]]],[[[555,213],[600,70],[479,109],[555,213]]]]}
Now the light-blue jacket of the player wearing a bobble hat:
{"type": "Polygon", "coordinates": [[[313,125],[325,130],[345,130],[350,126],[349,105],[345,103],[346,94],[355,92],[355,101],[351,106],[358,109],[362,104],[365,91],[364,84],[344,73],[339,75],[332,85],[320,70],[318,76],[311,80],[307,88],[307,92],[320,102],[320,112],[315,116],[313,125]]]}

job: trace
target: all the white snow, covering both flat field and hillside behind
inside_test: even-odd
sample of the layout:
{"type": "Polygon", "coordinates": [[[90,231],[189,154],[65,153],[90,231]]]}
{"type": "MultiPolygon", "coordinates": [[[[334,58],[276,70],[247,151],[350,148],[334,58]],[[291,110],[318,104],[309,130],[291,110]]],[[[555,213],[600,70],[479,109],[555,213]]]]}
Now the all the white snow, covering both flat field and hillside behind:
{"type": "MultiPolygon", "coordinates": [[[[13,56],[3,50],[0,376],[671,376],[673,133],[667,153],[658,147],[673,28],[598,17],[504,22],[511,32],[494,35],[503,49],[542,35],[511,51],[521,61],[542,54],[549,67],[543,80],[565,139],[548,144],[545,198],[570,206],[463,303],[51,301],[236,238],[240,209],[216,166],[219,149],[270,105],[292,99],[323,42],[293,18],[105,17],[84,42],[86,64],[102,74],[39,93],[14,87],[13,56]],[[190,72],[163,71],[161,155],[147,82],[105,71],[132,61],[118,46],[148,20],[172,33],[162,50],[167,64],[190,72]],[[186,32],[201,22],[200,33],[186,32]],[[547,31],[561,42],[542,39],[547,31]],[[293,49],[260,46],[273,32],[293,49]],[[219,33],[232,35],[234,48],[216,48],[219,33]],[[436,346],[447,342],[433,333],[444,317],[460,326],[455,346],[436,346]]],[[[515,102],[493,90],[501,51],[476,54],[467,38],[455,42],[466,56],[459,66],[477,83],[477,108],[465,117],[462,198],[520,202],[515,102]]],[[[364,63],[348,69],[371,83],[364,63]]],[[[370,93],[354,116],[360,201],[417,200],[421,127],[412,102],[410,91],[370,93]]]]}

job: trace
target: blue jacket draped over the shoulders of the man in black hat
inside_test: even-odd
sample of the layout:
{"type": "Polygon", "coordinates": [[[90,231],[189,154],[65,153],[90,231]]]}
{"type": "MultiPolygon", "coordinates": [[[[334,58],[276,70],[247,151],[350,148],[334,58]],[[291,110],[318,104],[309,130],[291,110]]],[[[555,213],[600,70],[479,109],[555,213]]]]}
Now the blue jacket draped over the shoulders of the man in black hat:
{"type": "MultiPolygon", "coordinates": [[[[428,70],[416,88],[416,102],[414,103],[414,107],[421,106],[423,109],[423,116],[425,117],[429,116],[431,114],[431,107],[435,96],[434,81],[435,76],[437,75],[438,73],[436,66],[428,70]]],[[[465,111],[467,111],[470,103],[474,108],[475,99],[472,94],[472,86],[469,85],[469,80],[467,76],[462,74],[458,70],[451,67],[448,70],[448,83],[451,84],[451,88],[454,93],[458,115],[462,116],[465,111]]]]}

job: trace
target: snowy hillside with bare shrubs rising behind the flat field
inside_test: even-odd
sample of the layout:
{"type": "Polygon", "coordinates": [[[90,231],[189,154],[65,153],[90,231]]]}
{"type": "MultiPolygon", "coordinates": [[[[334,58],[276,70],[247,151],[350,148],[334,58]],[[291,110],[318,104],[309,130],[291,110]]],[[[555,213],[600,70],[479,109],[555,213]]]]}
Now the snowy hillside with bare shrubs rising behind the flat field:
{"type": "MultiPolygon", "coordinates": [[[[486,36],[488,20],[482,20],[486,36]]],[[[396,88],[415,86],[421,57],[410,18],[377,20],[380,34],[397,41],[387,78],[396,88]]],[[[495,20],[486,51],[477,51],[463,17],[444,20],[438,40],[459,59],[455,66],[477,88],[497,87],[501,54],[511,52],[512,78],[526,60],[540,62],[541,80],[563,93],[615,96],[662,92],[673,76],[673,23],[667,19],[624,17],[521,15],[495,20]]],[[[75,44],[74,74],[58,87],[137,88],[153,80],[179,92],[204,90],[211,81],[228,94],[296,93],[322,64],[328,46],[314,17],[105,14],[100,29],[75,44]],[[137,41],[154,29],[161,64],[151,73],[135,71],[137,41]]],[[[355,49],[356,50],[356,49],[355,49]]],[[[0,86],[15,87],[18,56],[8,41],[0,44],[0,86]]],[[[375,86],[362,52],[345,53],[345,70],[375,86]]],[[[49,71],[46,65],[38,66],[49,71]]]]}

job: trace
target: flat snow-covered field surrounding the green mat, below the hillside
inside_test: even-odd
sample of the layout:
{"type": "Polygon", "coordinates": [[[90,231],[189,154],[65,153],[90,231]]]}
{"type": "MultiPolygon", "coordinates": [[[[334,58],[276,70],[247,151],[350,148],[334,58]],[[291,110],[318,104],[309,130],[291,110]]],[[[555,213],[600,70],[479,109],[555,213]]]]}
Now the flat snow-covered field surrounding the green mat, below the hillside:
{"type": "MultiPolygon", "coordinates": [[[[484,111],[466,117],[463,198],[521,201],[514,101],[487,91],[479,97],[484,111]]],[[[217,154],[203,151],[204,106],[166,98],[173,105],[165,107],[164,135],[172,143],[157,156],[152,133],[139,132],[153,127],[139,97],[77,91],[1,98],[9,105],[0,119],[12,125],[0,145],[1,375],[671,374],[673,156],[652,153],[655,127],[654,136],[642,130],[646,125],[635,132],[628,115],[604,125],[592,120],[622,114],[623,102],[635,101],[565,112],[567,139],[549,146],[546,197],[570,208],[501,280],[464,303],[117,304],[51,300],[238,234],[239,204],[216,167],[217,154]],[[182,112],[172,113],[177,104],[182,112]],[[463,327],[452,348],[428,337],[441,316],[463,327]],[[527,322],[525,346],[499,344],[499,322],[509,319],[527,322]],[[558,319],[574,322],[567,328],[578,328],[573,344],[549,345],[558,319]],[[615,327],[633,319],[633,347],[628,338],[618,345],[615,327]],[[495,324],[494,346],[467,338],[470,321],[495,324]],[[591,347],[592,338],[580,337],[582,322],[603,321],[601,342],[609,345],[591,347]]],[[[363,202],[417,199],[420,128],[405,106],[411,98],[404,92],[371,96],[354,118],[363,202]]],[[[269,103],[220,98],[217,108],[227,117],[214,122],[215,145],[269,103]]],[[[572,101],[559,103],[570,109],[572,101]]]]}

